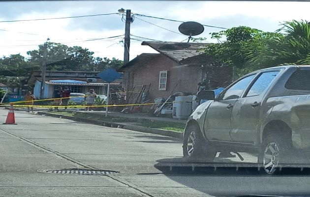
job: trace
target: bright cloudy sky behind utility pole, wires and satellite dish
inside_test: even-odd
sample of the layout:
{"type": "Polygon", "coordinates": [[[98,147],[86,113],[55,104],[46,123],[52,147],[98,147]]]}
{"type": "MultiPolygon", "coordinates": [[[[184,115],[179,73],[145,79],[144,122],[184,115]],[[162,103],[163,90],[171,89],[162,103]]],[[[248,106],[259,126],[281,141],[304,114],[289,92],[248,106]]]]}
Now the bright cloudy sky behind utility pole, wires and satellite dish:
{"type": "MultiPolygon", "coordinates": [[[[132,13],[179,21],[196,21],[210,26],[223,28],[249,26],[274,32],[279,29],[280,22],[292,19],[310,20],[309,7],[310,2],[263,1],[2,1],[0,2],[0,56],[20,53],[27,57],[27,51],[37,49],[37,45],[44,43],[47,38],[52,42],[60,42],[68,46],[88,48],[95,52],[94,57],[115,57],[123,60],[124,55],[121,42],[124,36],[83,41],[123,35],[124,22],[122,22],[122,16],[118,14],[44,21],[1,21],[118,13],[118,9],[124,8],[131,9],[132,13]]],[[[178,34],[180,24],[140,16],[136,17],[131,24],[130,33],[155,40],[180,42],[187,38],[186,35],[178,34]]],[[[196,37],[209,37],[209,33],[220,30],[205,27],[204,33],[196,37]]],[[[137,37],[131,36],[131,38],[137,37]]],[[[216,42],[211,39],[207,41],[216,42]]],[[[130,59],[141,53],[150,52],[155,53],[150,47],[141,46],[141,41],[131,40],[130,59]]]]}

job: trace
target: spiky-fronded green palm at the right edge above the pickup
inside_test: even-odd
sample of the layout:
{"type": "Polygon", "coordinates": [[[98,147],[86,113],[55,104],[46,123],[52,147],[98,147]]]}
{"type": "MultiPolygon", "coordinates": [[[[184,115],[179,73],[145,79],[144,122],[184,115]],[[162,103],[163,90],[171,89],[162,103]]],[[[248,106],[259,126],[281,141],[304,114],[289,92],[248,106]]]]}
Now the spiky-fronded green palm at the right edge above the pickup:
{"type": "Polygon", "coordinates": [[[268,40],[264,47],[248,53],[250,65],[270,67],[310,64],[309,22],[304,20],[285,22],[277,31],[280,32],[284,35],[268,40]]]}

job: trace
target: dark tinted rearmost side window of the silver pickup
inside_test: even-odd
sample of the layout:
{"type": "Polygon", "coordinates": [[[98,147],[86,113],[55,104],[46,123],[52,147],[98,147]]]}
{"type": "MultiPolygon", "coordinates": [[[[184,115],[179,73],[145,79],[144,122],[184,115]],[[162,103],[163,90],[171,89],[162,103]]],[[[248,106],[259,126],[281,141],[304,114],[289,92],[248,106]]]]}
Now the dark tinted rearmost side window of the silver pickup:
{"type": "Polygon", "coordinates": [[[285,83],[289,90],[310,90],[310,70],[296,70],[285,83]]]}

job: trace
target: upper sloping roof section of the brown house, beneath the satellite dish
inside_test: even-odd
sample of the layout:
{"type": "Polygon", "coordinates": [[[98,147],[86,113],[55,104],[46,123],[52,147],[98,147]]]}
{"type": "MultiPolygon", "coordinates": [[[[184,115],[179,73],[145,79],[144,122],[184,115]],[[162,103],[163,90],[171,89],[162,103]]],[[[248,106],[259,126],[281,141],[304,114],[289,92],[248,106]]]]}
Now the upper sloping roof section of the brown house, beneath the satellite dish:
{"type": "Polygon", "coordinates": [[[198,49],[203,48],[207,43],[196,42],[155,42],[155,41],[143,41],[142,45],[148,45],[155,49],[159,53],[166,55],[173,61],[180,63],[186,58],[197,56],[201,52],[197,52],[198,49]]]}

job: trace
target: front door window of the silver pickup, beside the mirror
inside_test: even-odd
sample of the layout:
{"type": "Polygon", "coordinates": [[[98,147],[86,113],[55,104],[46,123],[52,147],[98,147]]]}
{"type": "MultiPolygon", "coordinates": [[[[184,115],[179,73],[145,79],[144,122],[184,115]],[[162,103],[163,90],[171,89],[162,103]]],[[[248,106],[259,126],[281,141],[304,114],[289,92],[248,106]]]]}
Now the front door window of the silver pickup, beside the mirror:
{"type": "Polygon", "coordinates": [[[256,74],[252,74],[250,76],[247,76],[237,83],[235,83],[233,86],[231,86],[222,96],[222,100],[228,100],[228,99],[238,99],[242,95],[243,91],[248,87],[248,84],[252,81],[252,79],[255,77],[256,74]]]}

